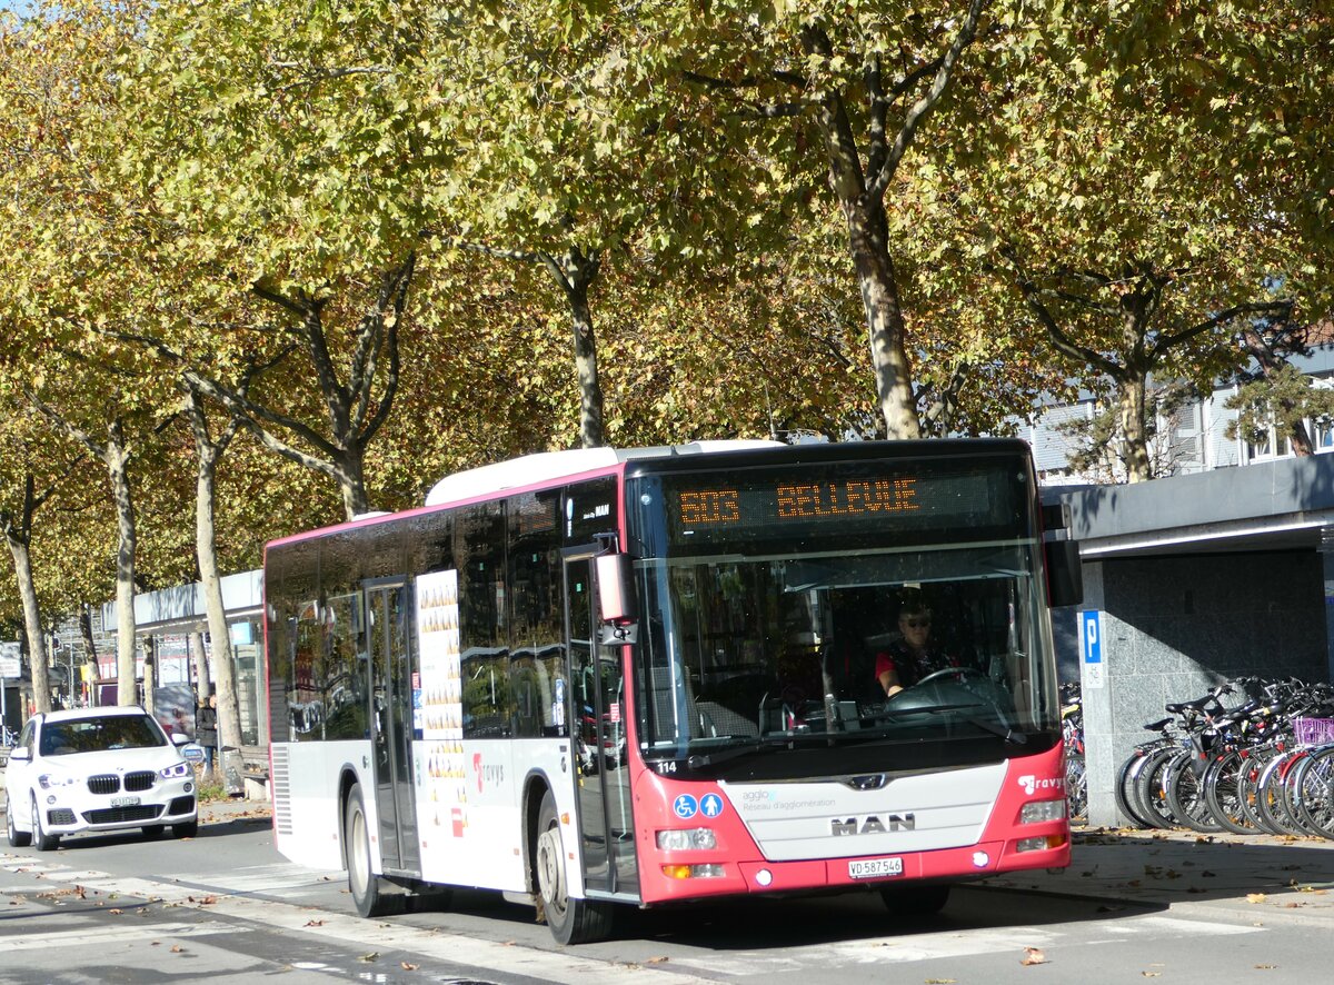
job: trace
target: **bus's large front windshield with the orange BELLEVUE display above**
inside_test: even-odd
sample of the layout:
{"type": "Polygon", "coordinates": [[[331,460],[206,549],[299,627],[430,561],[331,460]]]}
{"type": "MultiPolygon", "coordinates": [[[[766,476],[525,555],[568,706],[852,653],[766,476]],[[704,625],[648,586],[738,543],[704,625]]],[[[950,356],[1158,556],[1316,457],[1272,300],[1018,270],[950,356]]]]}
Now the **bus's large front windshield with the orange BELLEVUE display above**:
{"type": "Polygon", "coordinates": [[[766,775],[798,777],[964,765],[1054,741],[1041,543],[1014,459],[719,478],[627,488],[650,762],[754,753],[766,775]],[[820,758],[830,749],[838,765],[820,758]]]}

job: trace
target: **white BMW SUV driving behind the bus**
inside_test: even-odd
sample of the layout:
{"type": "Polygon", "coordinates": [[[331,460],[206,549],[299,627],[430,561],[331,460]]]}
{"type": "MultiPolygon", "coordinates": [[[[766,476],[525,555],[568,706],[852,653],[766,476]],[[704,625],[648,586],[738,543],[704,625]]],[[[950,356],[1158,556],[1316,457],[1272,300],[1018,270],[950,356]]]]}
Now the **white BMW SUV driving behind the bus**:
{"type": "Polygon", "coordinates": [[[76,832],[199,830],[195,770],[141,707],[51,711],[28,719],[5,767],[9,844],[39,852],[76,832]]]}

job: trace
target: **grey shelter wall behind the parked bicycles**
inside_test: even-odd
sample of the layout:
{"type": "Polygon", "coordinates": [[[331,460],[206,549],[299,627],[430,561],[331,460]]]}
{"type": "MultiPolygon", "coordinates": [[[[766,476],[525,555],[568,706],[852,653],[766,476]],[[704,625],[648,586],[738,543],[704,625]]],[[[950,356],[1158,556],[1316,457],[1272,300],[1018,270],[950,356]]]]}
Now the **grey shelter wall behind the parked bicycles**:
{"type": "Polygon", "coordinates": [[[1167,714],[1166,703],[1246,674],[1329,679],[1315,551],[1085,563],[1082,609],[1102,611],[1105,683],[1082,679],[1094,825],[1119,824],[1117,767],[1150,735],[1142,726],[1167,714]]]}

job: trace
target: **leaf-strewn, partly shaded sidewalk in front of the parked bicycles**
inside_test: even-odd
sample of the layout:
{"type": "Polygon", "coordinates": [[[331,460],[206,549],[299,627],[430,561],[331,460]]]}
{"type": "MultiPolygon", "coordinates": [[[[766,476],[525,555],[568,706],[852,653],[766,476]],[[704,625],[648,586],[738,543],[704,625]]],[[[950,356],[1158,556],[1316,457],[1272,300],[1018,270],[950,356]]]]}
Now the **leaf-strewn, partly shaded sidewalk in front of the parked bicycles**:
{"type": "Polygon", "coordinates": [[[1109,904],[1227,909],[1254,920],[1301,914],[1334,922],[1334,841],[1077,829],[1069,869],[1014,873],[987,885],[1109,904]]]}

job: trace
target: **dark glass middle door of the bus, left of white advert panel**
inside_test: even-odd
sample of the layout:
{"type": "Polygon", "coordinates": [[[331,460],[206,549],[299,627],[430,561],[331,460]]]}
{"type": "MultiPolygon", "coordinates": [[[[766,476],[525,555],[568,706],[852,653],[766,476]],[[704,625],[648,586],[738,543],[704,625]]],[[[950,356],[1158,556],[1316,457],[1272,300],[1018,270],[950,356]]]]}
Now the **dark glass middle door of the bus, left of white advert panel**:
{"type": "Polygon", "coordinates": [[[412,795],[412,661],[408,590],[403,582],[366,586],[371,658],[371,739],[375,749],[375,813],[386,872],[416,873],[412,795]]]}

